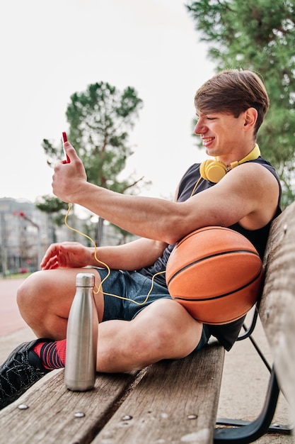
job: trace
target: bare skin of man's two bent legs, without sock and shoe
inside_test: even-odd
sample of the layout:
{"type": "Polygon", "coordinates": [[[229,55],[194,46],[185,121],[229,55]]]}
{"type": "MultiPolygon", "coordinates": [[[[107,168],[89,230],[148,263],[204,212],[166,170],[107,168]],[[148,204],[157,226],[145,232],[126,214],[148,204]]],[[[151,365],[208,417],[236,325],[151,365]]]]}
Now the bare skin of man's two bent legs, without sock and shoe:
{"type": "MultiPolygon", "coordinates": [[[[66,338],[66,323],[78,272],[81,270],[35,273],[18,290],[21,314],[37,337],[66,338]]],[[[93,272],[98,285],[99,274],[96,270],[93,272]]],[[[95,297],[101,321],[103,297],[101,294],[95,297]]],[[[132,321],[100,323],[97,370],[127,372],[161,359],[184,357],[195,349],[201,334],[202,324],[195,321],[183,306],[172,299],[159,299],[132,321]]]]}

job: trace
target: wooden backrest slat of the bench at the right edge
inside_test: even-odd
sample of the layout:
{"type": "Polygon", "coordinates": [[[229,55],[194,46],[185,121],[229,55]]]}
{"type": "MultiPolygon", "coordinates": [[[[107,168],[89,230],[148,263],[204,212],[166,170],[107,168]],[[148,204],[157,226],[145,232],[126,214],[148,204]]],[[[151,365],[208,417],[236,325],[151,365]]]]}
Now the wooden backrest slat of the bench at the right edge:
{"type": "MultiPolygon", "coordinates": [[[[295,202],[272,223],[259,314],[279,385],[295,412],[295,202]]],[[[295,414],[294,414],[295,416],[295,414]]]]}

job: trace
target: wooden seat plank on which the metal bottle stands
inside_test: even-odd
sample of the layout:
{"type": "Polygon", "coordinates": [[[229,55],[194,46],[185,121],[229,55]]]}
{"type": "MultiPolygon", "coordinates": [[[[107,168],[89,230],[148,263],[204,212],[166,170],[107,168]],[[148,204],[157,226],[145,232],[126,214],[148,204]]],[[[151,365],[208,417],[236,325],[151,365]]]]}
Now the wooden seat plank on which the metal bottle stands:
{"type": "Polygon", "coordinates": [[[1,411],[1,440],[9,444],[90,443],[135,377],[100,374],[93,390],[70,392],[60,370],[1,411]],[[20,404],[28,409],[18,409],[20,404]],[[81,412],[85,416],[75,417],[81,412]]]}

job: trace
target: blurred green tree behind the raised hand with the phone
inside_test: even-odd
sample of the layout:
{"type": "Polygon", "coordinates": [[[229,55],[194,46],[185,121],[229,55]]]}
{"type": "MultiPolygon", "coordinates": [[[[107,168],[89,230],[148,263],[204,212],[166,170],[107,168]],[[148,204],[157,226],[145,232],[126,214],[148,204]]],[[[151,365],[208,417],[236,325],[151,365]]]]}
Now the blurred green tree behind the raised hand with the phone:
{"type": "MultiPolygon", "coordinates": [[[[112,191],[134,191],[141,179],[120,178],[129,147],[129,131],[134,127],[143,102],[132,87],[119,91],[105,82],[88,85],[86,91],[71,95],[66,109],[68,138],[86,169],[88,181],[112,191]]],[[[43,140],[49,165],[64,157],[62,145],[43,140]]],[[[101,242],[102,223],[97,224],[96,241],[101,242]]]]}

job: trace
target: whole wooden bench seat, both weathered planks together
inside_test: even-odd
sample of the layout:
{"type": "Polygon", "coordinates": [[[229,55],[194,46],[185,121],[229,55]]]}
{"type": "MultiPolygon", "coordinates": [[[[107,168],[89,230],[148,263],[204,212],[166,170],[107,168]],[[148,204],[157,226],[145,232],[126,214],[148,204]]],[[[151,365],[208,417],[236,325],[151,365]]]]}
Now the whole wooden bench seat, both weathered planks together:
{"type": "Polygon", "coordinates": [[[81,393],[66,389],[61,370],[0,412],[1,442],[212,443],[223,365],[224,349],[209,345],[138,374],[98,374],[81,393]]]}

